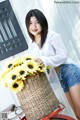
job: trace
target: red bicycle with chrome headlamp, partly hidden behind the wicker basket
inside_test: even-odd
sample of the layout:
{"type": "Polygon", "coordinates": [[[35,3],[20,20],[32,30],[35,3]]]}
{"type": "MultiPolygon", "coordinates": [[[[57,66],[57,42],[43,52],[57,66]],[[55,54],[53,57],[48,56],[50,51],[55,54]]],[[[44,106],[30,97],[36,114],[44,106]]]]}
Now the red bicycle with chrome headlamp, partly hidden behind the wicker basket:
{"type": "MultiPolygon", "coordinates": [[[[60,104],[55,111],[53,111],[48,116],[41,118],[39,120],[75,120],[70,116],[59,114],[59,112],[61,112],[64,108],[65,106],[63,104],[60,104]]],[[[22,107],[16,106],[15,104],[11,104],[6,109],[4,109],[1,113],[7,113],[7,120],[27,120],[22,107]]]]}

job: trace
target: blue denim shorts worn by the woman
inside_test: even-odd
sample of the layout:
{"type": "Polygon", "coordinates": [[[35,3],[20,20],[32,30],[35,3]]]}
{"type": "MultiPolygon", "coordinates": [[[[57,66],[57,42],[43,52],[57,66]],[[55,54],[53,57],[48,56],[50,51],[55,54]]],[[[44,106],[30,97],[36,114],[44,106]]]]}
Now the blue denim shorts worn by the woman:
{"type": "Polygon", "coordinates": [[[64,92],[69,92],[70,87],[80,84],[80,68],[74,64],[63,64],[58,77],[64,92]]]}

